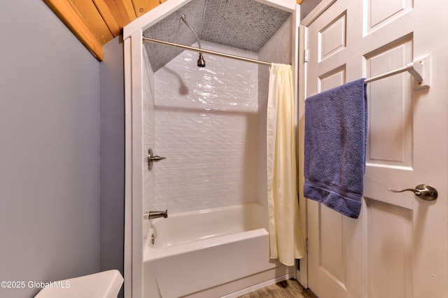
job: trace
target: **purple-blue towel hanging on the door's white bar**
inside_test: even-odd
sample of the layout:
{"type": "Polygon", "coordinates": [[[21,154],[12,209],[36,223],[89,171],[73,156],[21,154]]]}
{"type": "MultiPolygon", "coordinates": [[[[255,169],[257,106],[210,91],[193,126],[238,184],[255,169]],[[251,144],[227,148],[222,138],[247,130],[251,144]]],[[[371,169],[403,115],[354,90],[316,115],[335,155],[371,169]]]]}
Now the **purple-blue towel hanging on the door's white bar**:
{"type": "Polygon", "coordinates": [[[305,101],[304,197],[358,218],[367,148],[365,78],[305,101]]]}

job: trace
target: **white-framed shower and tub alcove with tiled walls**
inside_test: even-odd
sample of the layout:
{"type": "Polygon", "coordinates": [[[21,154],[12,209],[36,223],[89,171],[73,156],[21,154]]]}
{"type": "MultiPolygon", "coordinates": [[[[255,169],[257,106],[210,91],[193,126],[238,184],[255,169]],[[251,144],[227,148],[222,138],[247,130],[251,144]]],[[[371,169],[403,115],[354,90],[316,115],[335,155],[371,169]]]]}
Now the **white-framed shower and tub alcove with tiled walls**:
{"type": "MultiPolygon", "coordinates": [[[[270,65],[271,62],[266,62],[269,57],[281,60],[276,63],[290,64],[295,55],[297,61],[296,29],[300,22],[297,9],[295,0],[170,0],[124,28],[126,115],[130,116],[126,117],[125,297],[239,297],[295,276],[295,267],[269,259],[267,198],[266,192],[258,187],[265,183],[261,177],[265,177],[267,169],[265,162],[253,157],[265,148],[262,138],[258,138],[258,133],[264,133],[261,132],[264,124],[258,118],[264,119],[266,111],[258,106],[266,104],[269,76],[267,66],[258,65],[270,65]],[[202,27],[213,31],[216,20],[223,21],[216,17],[218,10],[214,9],[219,3],[241,14],[244,22],[233,22],[238,24],[249,23],[244,10],[238,8],[243,6],[241,3],[245,7],[254,5],[257,9],[249,9],[248,13],[268,15],[269,22],[279,20],[278,31],[272,32],[274,35],[264,48],[257,50],[208,41],[204,31],[195,30],[202,27]],[[259,6],[262,7],[258,9],[259,6]],[[202,26],[207,11],[211,12],[207,20],[212,24],[202,26]],[[160,43],[167,45],[166,38],[153,38],[158,34],[151,37],[151,32],[160,33],[164,28],[181,32],[180,39],[170,44],[176,47],[149,48],[160,43]],[[182,34],[183,30],[191,30],[193,34],[188,31],[182,34]],[[295,41],[291,40],[293,36],[295,41]],[[195,42],[199,48],[187,46],[195,42]],[[190,54],[185,57],[176,54],[173,56],[176,58],[169,57],[163,62],[167,57],[159,56],[168,55],[172,48],[207,54],[207,57],[200,54],[197,63],[193,61],[193,66],[199,66],[201,71],[190,70],[190,60],[196,59],[190,54]],[[221,49],[224,54],[220,54],[221,49]],[[153,55],[148,55],[151,51],[153,55]],[[241,57],[238,54],[241,52],[251,58],[241,57]],[[178,58],[182,61],[177,61],[178,58]],[[239,60],[237,64],[228,62],[235,59],[239,60]],[[258,65],[246,66],[246,62],[258,65]],[[168,67],[158,72],[165,65],[168,67]],[[187,91],[190,93],[184,94],[187,91]],[[210,92],[213,98],[207,95],[210,92]],[[194,102],[192,94],[198,94],[194,102]],[[203,117],[211,122],[202,122],[203,117]],[[185,152],[178,152],[179,148],[190,146],[195,139],[200,141],[193,142],[188,160],[183,160],[185,152]],[[165,166],[158,176],[157,171],[149,174],[147,166],[141,166],[146,148],[155,145],[158,152],[167,156],[166,163],[172,162],[169,166],[156,166],[155,170],[165,166]],[[211,158],[215,155],[219,162],[211,158]],[[192,173],[183,168],[192,164],[206,171],[192,173]],[[254,165],[255,173],[248,170],[254,169],[254,165]],[[206,186],[195,177],[181,177],[184,173],[203,175],[206,186]],[[156,191],[165,192],[166,196],[157,197],[156,191]],[[175,203],[167,204],[169,201],[175,203]],[[221,206],[227,204],[231,205],[221,206]],[[149,208],[160,206],[165,210],[173,205],[179,211],[221,207],[170,211],[168,218],[151,220],[142,216],[149,208]]],[[[243,31],[248,30],[239,34],[243,31]]],[[[258,43],[259,37],[249,34],[243,39],[252,45],[258,43]]]]}

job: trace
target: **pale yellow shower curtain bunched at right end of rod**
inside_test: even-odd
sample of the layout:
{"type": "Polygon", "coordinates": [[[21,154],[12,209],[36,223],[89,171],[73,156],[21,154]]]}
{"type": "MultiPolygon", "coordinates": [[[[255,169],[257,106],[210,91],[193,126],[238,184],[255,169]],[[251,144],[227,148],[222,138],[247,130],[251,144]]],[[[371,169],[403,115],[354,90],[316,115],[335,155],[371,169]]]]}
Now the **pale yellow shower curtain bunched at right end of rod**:
{"type": "Polygon", "coordinates": [[[304,257],[297,197],[293,72],[272,64],[267,99],[267,204],[270,258],[293,266],[304,257]]]}

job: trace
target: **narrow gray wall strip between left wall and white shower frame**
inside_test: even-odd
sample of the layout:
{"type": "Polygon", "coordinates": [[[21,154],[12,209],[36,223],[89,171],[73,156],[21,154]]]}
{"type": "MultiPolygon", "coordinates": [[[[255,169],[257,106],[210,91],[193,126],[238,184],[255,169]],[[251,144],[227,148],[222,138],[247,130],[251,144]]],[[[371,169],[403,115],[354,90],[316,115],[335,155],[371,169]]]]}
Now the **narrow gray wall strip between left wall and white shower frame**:
{"type": "MultiPolygon", "coordinates": [[[[125,87],[123,43],[104,46],[101,80],[101,271],[123,275],[125,238],[125,87]]],[[[123,292],[123,288],[122,288],[123,292]]]]}

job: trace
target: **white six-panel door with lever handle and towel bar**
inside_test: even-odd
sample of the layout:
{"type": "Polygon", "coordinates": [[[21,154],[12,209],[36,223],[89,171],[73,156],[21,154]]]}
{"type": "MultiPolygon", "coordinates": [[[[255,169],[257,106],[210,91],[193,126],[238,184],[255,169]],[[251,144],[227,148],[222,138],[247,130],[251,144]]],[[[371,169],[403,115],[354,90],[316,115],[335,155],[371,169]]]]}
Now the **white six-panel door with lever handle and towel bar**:
{"type": "Polygon", "coordinates": [[[367,85],[361,214],[347,218],[307,201],[309,288],[320,298],[448,297],[448,4],[331,2],[323,1],[321,13],[302,22],[308,48],[304,97],[426,55],[430,87],[414,90],[407,72],[367,85]],[[421,183],[433,185],[438,198],[387,190],[421,183]]]}

